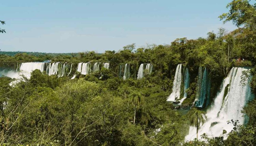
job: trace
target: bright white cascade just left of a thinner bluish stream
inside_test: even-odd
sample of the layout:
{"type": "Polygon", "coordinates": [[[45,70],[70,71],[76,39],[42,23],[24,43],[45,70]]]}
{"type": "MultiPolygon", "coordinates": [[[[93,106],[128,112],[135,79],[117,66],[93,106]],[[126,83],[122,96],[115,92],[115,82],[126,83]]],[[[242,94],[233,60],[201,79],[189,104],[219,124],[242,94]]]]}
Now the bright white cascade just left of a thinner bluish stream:
{"type": "Polygon", "coordinates": [[[180,99],[181,94],[181,81],[182,81],[182,73],[181,73],[182,64],[177,65],[173,86],[172,86],[172,93],[167,98],[167,101],[175,101],[180,99]]]}

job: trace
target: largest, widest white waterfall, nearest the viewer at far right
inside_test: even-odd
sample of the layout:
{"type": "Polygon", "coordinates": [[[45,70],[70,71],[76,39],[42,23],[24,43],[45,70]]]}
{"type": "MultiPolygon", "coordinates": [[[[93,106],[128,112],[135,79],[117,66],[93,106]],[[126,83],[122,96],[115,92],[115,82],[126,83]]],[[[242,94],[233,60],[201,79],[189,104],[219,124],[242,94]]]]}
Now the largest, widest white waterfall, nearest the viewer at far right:
{"type": "MultiPolygon", "coordinates": [[[[248,68],[232,68],[228,76],[223,80],[221,89],[217,93],[211,108],[207,110],[207,121],[201,125],[198,135],[201,139],[203,133],[208,136],[224,136],[223,130],[228,133],[232,130],[233,125],[227,124],[229,120],[239,120],[240,124],[244,124],[245,118],[241,110],[248,101],[254,98],[251,93],[250,80],[246,80],[245,86],[240,86],[242,71],[248,71],[248,68]],[[226,93],[225,93],[226,89],[226,93]],[[225,95],[226,94],[226,95],[225,95]]],[[[187,141],[196,138],[196,128],[190,126],[189,134],[185,137],[187,141]]]]}

